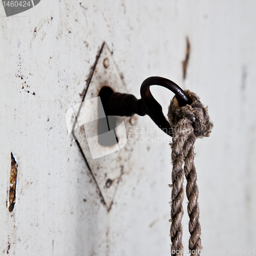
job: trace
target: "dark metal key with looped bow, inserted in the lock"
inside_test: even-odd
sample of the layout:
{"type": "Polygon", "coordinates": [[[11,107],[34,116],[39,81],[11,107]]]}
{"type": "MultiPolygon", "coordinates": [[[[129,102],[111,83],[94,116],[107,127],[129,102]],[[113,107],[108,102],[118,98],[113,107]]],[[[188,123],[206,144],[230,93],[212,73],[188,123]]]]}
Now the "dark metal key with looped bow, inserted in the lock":
{"type": "Polygon", "coordinates": [[[189,97],[184,91],[173,81],[152,76],[143,81],[140,88],[141,99],[137,99],[132,94],[112,93],[102,100],[103,108],[106,116],[140,116],[148,115],[169,136],[173,135],[172,128],[166,120],[162,112],[162,106],[155,100],[150,92],[153,85],[162,86],[177,96],[180,106],[190,103],[189,97]]]}

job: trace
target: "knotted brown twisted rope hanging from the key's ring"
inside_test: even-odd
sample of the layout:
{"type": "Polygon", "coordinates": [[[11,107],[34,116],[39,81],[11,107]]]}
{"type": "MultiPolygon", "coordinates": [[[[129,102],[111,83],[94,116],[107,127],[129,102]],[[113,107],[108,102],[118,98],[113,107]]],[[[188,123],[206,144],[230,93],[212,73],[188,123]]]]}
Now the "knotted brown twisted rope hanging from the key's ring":
{"type": "Polygon", "coordinates": [[[197,173],[194,165],[194,143],[196,138],[209,137],[213,124],[199,97],[188,90],[185,91],[191,99],[190,105],[180,107],[176,96],[170,101],[168,120],[173,129],[172,147],[172,205],[170,211],[170,240],[172,241],[172,256],[183,255],[182,224],[183,217],[183,180],[187,180],[186,195],[188,199],[187,212],[189,216],[188,229],[190,238],[188,248],[190,255],[200,255],[201,226],[199,222],[197,173]],[[184,163],[184,167],[183,166],[184,163]]]}

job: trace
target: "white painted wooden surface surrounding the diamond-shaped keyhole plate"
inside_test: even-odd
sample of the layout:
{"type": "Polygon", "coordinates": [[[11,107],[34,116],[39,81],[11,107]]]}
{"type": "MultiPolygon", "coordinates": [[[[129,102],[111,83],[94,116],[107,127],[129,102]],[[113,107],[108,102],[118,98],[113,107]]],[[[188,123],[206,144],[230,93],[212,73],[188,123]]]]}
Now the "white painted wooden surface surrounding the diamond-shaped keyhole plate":
{"type": "MultiPolygon", "coordinates": [[[[42,0],[6,18],[1,3],[0,253],[169,254],[168,143],[135,145],[108,212],[68,136],[65,112],[81,101],[103,41],[127,91],[138,98],[141,82],[158,75],[209,106],[215,127],[197,141],[195,160],[202,255],[255,248],[255,12],[249,0],[42,0]],[[186,36],[191,54],[183,81],[186,36]],[[11,152],[18,164],[12,214],[6,205],[11,152]]],[[[152,92],[167,113],[173,94],[152,92]]],[[[156,127],[148,117],[139,117],[137,126],[156,127]]],[[[187,221],[185,214],[186,247],[187,221]]]]}

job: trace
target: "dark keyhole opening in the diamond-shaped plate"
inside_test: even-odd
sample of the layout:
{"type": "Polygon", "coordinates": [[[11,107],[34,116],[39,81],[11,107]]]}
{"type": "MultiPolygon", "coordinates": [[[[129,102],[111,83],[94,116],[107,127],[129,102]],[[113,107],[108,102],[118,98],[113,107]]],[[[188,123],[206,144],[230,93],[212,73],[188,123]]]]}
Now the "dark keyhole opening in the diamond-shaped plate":
{"type": "MultiPolygon", "coordinates": [[[[117,119],[113,116],[108,116],[108,113],[109,113],[108,102],[113,93],[114,93],[113,90],[107,86],[103,87],[99,92],[99,97],[102,102],[106,117],[98,119],[98,127],[97,127],[98,135],[114,130],[114,133],[116,136],[115,141],[106,138],[106,136],[98,136],[98,143],[102,146],[113,146],[118,142],[118,137],[115,131],[117,119]]],[[[98,111],[99,109],[100,108],[98,108],[98,111]]]]}

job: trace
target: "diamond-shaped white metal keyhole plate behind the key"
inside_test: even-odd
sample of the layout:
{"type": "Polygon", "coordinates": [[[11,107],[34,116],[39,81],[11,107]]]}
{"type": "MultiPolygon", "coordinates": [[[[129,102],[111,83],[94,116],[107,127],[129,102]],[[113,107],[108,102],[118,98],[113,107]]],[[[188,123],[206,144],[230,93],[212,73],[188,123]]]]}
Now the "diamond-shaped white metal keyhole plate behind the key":
{"type": "Polygon", "coordinates": [[[83,102],[73,107],[73,119],[76,116],[73,136],[110,210],[120,176],[129,168],[133,143],[128,135],[134,126],[131,117],[114,116],[107,120],[105,116],[99,97],[101,89],[127,93],[106,44],[100,50],[89,81],[83,102]]]}

